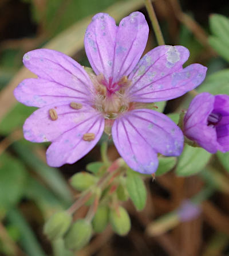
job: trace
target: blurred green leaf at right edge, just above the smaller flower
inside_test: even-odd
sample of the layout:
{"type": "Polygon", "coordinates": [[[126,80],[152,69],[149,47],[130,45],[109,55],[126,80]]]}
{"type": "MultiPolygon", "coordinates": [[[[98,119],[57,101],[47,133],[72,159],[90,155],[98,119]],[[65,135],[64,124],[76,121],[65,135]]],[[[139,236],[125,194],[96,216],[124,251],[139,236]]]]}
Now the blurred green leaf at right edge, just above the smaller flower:
{"type": "Polygon", "coordinates": [[[210,94],[229,95],[229,69],[223,69],[207,76],[203,84],[197,88],[198,92],[210,92],[210,94]]]}

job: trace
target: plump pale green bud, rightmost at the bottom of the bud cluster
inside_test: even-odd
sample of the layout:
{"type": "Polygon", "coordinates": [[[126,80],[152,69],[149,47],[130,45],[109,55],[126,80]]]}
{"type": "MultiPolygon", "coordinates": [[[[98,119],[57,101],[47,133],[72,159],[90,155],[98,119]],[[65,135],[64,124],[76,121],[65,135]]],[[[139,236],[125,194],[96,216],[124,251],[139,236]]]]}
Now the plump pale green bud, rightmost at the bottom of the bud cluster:
{"type": "Polygon", "coordinates": [[[118,210],[110,210],[109,221],[113,231],[118,235],[127,235],[131,229],[131,219],[129,218],[128,212],[121,206],[118,210]]]}

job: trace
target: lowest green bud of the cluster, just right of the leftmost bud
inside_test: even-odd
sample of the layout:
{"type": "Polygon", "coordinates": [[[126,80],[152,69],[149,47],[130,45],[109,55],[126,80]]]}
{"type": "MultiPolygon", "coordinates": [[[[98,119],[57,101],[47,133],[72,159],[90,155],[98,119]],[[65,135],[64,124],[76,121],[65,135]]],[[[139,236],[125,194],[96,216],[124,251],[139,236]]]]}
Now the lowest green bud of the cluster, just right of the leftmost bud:
{"type": "Polygon", "coordinates": [[[77,220],[65,237],[65,247],[69,250],[80,250],[92,236],[92,224],[85,219],[77,220]]]}

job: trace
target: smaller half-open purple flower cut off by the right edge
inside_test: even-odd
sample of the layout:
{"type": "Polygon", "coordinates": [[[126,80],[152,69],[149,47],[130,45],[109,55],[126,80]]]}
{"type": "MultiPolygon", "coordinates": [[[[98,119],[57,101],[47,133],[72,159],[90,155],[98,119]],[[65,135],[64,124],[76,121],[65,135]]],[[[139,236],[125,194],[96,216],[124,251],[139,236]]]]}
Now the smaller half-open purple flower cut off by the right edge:
{"type": "Polygon", "coordinates": [[[229,150],[229,96],[203,92],[184,116],[184,135],[210,153],[229,150]]]}

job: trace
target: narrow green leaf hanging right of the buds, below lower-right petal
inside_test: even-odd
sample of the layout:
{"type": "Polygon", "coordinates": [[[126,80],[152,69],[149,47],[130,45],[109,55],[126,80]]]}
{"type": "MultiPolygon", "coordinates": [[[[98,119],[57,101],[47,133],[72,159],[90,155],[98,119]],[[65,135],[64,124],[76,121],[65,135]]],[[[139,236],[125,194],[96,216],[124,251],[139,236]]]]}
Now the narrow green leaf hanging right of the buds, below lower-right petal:
{"type": "Polygon", "coordinates": [[[138,211],[143,210],[147,200],[147,189],[139,173],[127,170],[127,191],[138,211]]]}

